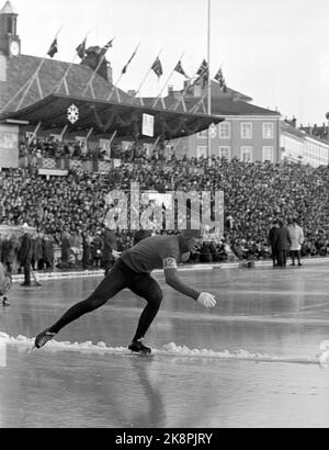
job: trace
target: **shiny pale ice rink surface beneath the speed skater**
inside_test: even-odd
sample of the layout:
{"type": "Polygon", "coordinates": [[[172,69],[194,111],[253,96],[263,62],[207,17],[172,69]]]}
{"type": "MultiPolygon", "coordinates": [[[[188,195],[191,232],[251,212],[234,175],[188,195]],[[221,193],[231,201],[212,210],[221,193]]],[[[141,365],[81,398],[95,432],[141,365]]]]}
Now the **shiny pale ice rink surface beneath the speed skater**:
{"type": "Polygon", "coordinates": [[[164,300],[146,339],[154,358],[122,349],[144,306],[129,291],[29,352],[101,279],[14,284],[0,307],[0,428],[328,427],[329,357],[318,356],[329,267],[181,272],[216,294],[211,311],[155,277],[164,300]]]}

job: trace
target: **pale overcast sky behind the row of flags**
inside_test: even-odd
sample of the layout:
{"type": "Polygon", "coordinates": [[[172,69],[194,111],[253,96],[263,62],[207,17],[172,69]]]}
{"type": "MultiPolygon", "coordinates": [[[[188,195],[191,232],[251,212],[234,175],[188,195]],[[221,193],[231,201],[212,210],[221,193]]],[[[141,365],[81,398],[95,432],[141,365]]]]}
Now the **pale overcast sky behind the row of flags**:
{"type": "MultiPolygon", "coordinates": [[[[0,0],[4,4],[5,0],[0,0]]],[[[223,67],[229,88],[252,103],[297,117],[300,125],[322,124],[329,111],[329,0],[11,0],[19,13],[22,53],[44,56],[58,34],[54,59],[72,61],[75,48],[105,45],[113,81],[139,45],[118,87],[137,90],[160,53],[163,75],[150,72],[144,97],[167,85],[182,89],[172,70],[181,58],[195,76],[207,59],[211,75],[223,67]],[[208,29],[208,1],[211,21],[208,29]]],[[[79,63],[77,57],[76,63],[79,63]]],[[[167,88],[163,93],[167,92],[167,88]]]]}

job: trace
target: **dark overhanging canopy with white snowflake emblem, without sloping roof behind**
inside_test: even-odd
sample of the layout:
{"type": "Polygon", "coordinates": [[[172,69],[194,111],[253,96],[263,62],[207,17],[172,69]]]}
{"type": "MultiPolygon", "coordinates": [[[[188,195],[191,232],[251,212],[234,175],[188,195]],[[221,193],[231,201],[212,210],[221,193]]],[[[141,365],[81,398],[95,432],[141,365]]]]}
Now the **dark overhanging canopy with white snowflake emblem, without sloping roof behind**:
{"type": "Polygon", "coordinates": [[[116,131],[117,136],[124,137],[141,133],[143,114],[155,117],[155,137],[163,135],[168,139],[198,133],[212,123],[217,124],[224,120],[207,114],[181,113],[55,93],[22,110],[8,113],[3,119],[26,121],[34,125],[41,122],[45,130],[68,125],[70,132],[93,128],[99,134],[109,135],[116,131]],[[78,112],[78,120],[73,124],[68,119],[71,106],[76,106],[78,112]]]}

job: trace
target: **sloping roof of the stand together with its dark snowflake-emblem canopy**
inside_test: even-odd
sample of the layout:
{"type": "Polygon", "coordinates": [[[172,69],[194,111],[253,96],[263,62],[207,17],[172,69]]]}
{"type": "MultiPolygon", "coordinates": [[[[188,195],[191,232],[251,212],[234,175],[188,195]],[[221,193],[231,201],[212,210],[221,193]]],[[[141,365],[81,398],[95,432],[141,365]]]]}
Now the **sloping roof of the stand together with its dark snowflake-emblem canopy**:
{"type": "Polygon", "coordinates": [[[50,59],[43,61],[26,90],[24,86],[29,86],[39,64],[41,58],[33,56],[7,58],[7,80],[0,82],[1,120],[26,121],[34,125],[41,122],[44,130],[68,126],[68,132],[78,132],[93,128],[94,133],[109,135],[116,132],[118,137],[124,137],[141,134],[143,114],[146,113],[155,117],[155,137],[163,135],[167,139],[198,133],[224,120],[205,114],[198,104],[200,99],[189,101],[186,111],[182,104],[174,111],[177,101],[168,98],[159,99],[155,108],[149,102],[141,104],[140,100],[129,97],[99,75],[86,90],[92,75],[89,67],[69,67],[67,63],[50,59]],[[61,82],[64,78],[65,82],[61,82]],[[78,112],[76,122],[68,115],[72,105],[78,112]],[[189,113],[195,105],[197,113],[189,113]]]}

